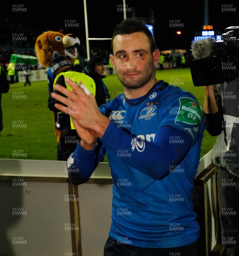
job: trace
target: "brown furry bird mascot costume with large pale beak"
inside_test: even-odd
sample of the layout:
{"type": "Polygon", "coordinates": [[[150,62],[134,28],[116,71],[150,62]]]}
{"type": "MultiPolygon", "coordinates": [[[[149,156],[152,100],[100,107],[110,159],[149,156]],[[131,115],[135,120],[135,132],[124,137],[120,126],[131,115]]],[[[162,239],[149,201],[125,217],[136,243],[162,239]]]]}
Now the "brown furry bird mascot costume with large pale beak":
{"type": "MultiPolygon", "coordinates": [[[[60,55],[65,55],[68,61],[73,65],[77,60],[78,50],[80,46],[80,40],[73,34],[64,35],[60,32],[46,31],[39,35],[35,43],[35,52],[38,62],[48,69],[48,92],[49,96],[53,91],[53,83],[55,76],[51,72],[51,60],[53,58],[53,52],[59,52],[60,55]]],[[[57,129],[57,113],[53,112],[54,119],[54,131],[57,136],[57,143],[60,141],[61,130],[57,129]]]]}

